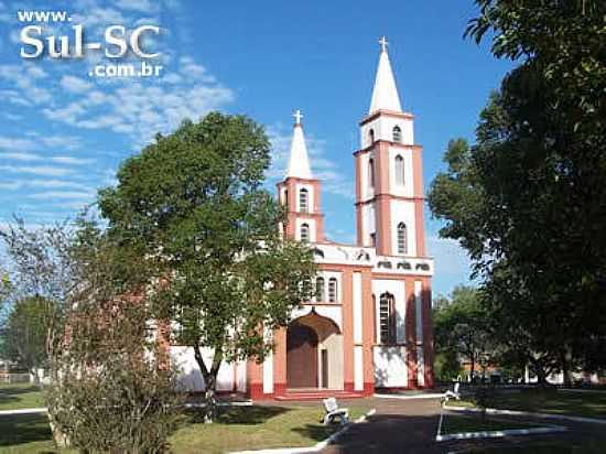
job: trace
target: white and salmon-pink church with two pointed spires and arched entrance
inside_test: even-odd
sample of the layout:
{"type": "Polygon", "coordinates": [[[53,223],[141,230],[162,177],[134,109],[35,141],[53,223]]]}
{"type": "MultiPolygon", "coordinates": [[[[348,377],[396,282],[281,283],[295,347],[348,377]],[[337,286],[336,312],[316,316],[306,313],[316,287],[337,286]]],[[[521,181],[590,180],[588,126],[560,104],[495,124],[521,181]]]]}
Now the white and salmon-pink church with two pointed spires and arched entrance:
{"type": "MultiPolygon", "coordinates": [[[[433,259],[423,229],[422,147],[411,114],[402,111],[381,39],[368,114],[359,123],[355,245],[324,236],[322,181],[310,163],[301,115],[278,197],[286,207],[288,238],[310,244],[318,267],[315,296],[274,333],[264,363],[225,364],[219,391],[255,400],[369,396],[376,389],[432,388],[433,259]]],[[[181,347],[184,385],[202,389],[196,366],[181,347]]]]}

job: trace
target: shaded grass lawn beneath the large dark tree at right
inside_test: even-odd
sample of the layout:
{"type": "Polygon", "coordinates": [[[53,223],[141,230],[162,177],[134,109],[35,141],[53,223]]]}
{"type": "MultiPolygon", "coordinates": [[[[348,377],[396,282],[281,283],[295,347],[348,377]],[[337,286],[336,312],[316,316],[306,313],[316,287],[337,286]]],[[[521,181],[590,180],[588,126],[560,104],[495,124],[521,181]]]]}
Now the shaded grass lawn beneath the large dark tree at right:
{"type": "MultiPolygon", "coordinates": [[[[473,407],[470,401],[452,401],[453,406],[473,407]]],[[[497,393],[495,408],[606,419],[606,392],[565,392],[552,389],[523,389],[497,393]]]]}

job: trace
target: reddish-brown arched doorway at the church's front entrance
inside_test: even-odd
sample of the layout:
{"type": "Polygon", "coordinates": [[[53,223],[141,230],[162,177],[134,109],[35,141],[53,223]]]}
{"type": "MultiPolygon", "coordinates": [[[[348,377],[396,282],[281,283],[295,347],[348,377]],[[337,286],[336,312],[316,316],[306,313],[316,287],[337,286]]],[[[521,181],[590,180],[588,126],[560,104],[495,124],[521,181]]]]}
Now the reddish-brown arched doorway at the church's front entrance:
{"type": "Polygon", "coordinates": [[[317,334],[296,322],[286,329],[286,382],[289,388],[317,387],[317,334]]]}

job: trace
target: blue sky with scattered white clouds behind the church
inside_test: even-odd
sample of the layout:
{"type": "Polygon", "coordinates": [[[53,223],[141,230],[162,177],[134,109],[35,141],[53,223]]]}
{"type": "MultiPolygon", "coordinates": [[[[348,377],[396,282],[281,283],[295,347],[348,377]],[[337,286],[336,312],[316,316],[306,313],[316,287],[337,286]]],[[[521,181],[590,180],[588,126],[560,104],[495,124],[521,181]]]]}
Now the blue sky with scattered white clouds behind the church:
{"type": "MultiPolygon", "coordinates": [[[[475,12],[472,0],[0,0],[0,225],[14,215],[31,225],[73,217],[99,187],[116,183],[120,162],[156,132],[212,110],[266,126],[273,190],[288,161],[292,112],[301,109],[312,171],[323,181],[326,236],[354,242],[351,153],[379,37],[390,43],[402,107],[415,116],[426,190],[444,170],[448,140],[473,141],[479,111],[511,68],[488,44],[463,39],[475,12]],[[101,40],[110,25],[127,33],[158,25],[160,34],[143,34],[141,47],[159,53],[147,60],[162,65],[159,76],[96,76],[95,67],[116,63],[102,50],[50,58],[45,47],[43,56],[23,58],[20,33],[31,23],[20,22],[18,11],[50,9],[66,11],[71,22],[36,25],[44,35],[69,36],[72,46],[77,24],[86,42],[101,40]]],[[[141,58],[130,52],[123,62],[141,58]]],[[[439,238],[440,226],[426,208],[434,292],[445,294],[469,281],[469,262],[456,242],[439,238]]]]}

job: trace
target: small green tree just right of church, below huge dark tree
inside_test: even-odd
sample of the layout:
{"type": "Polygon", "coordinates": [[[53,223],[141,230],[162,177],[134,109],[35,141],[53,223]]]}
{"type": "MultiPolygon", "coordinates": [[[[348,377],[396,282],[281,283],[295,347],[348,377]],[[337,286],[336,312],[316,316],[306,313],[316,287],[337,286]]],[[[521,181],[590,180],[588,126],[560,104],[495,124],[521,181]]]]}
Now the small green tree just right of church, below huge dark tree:
{"type": "Polygon", "coordinates": [[[461,369],[461,366],[453,367],[453,356],[468,361],[474,380],[476,365],[487,366],[493,347],[486,313],[476,290],[456,287],[452,300],[434,310],[433,320],[437,355],[451,361],[452,371],[461,369]]]}

